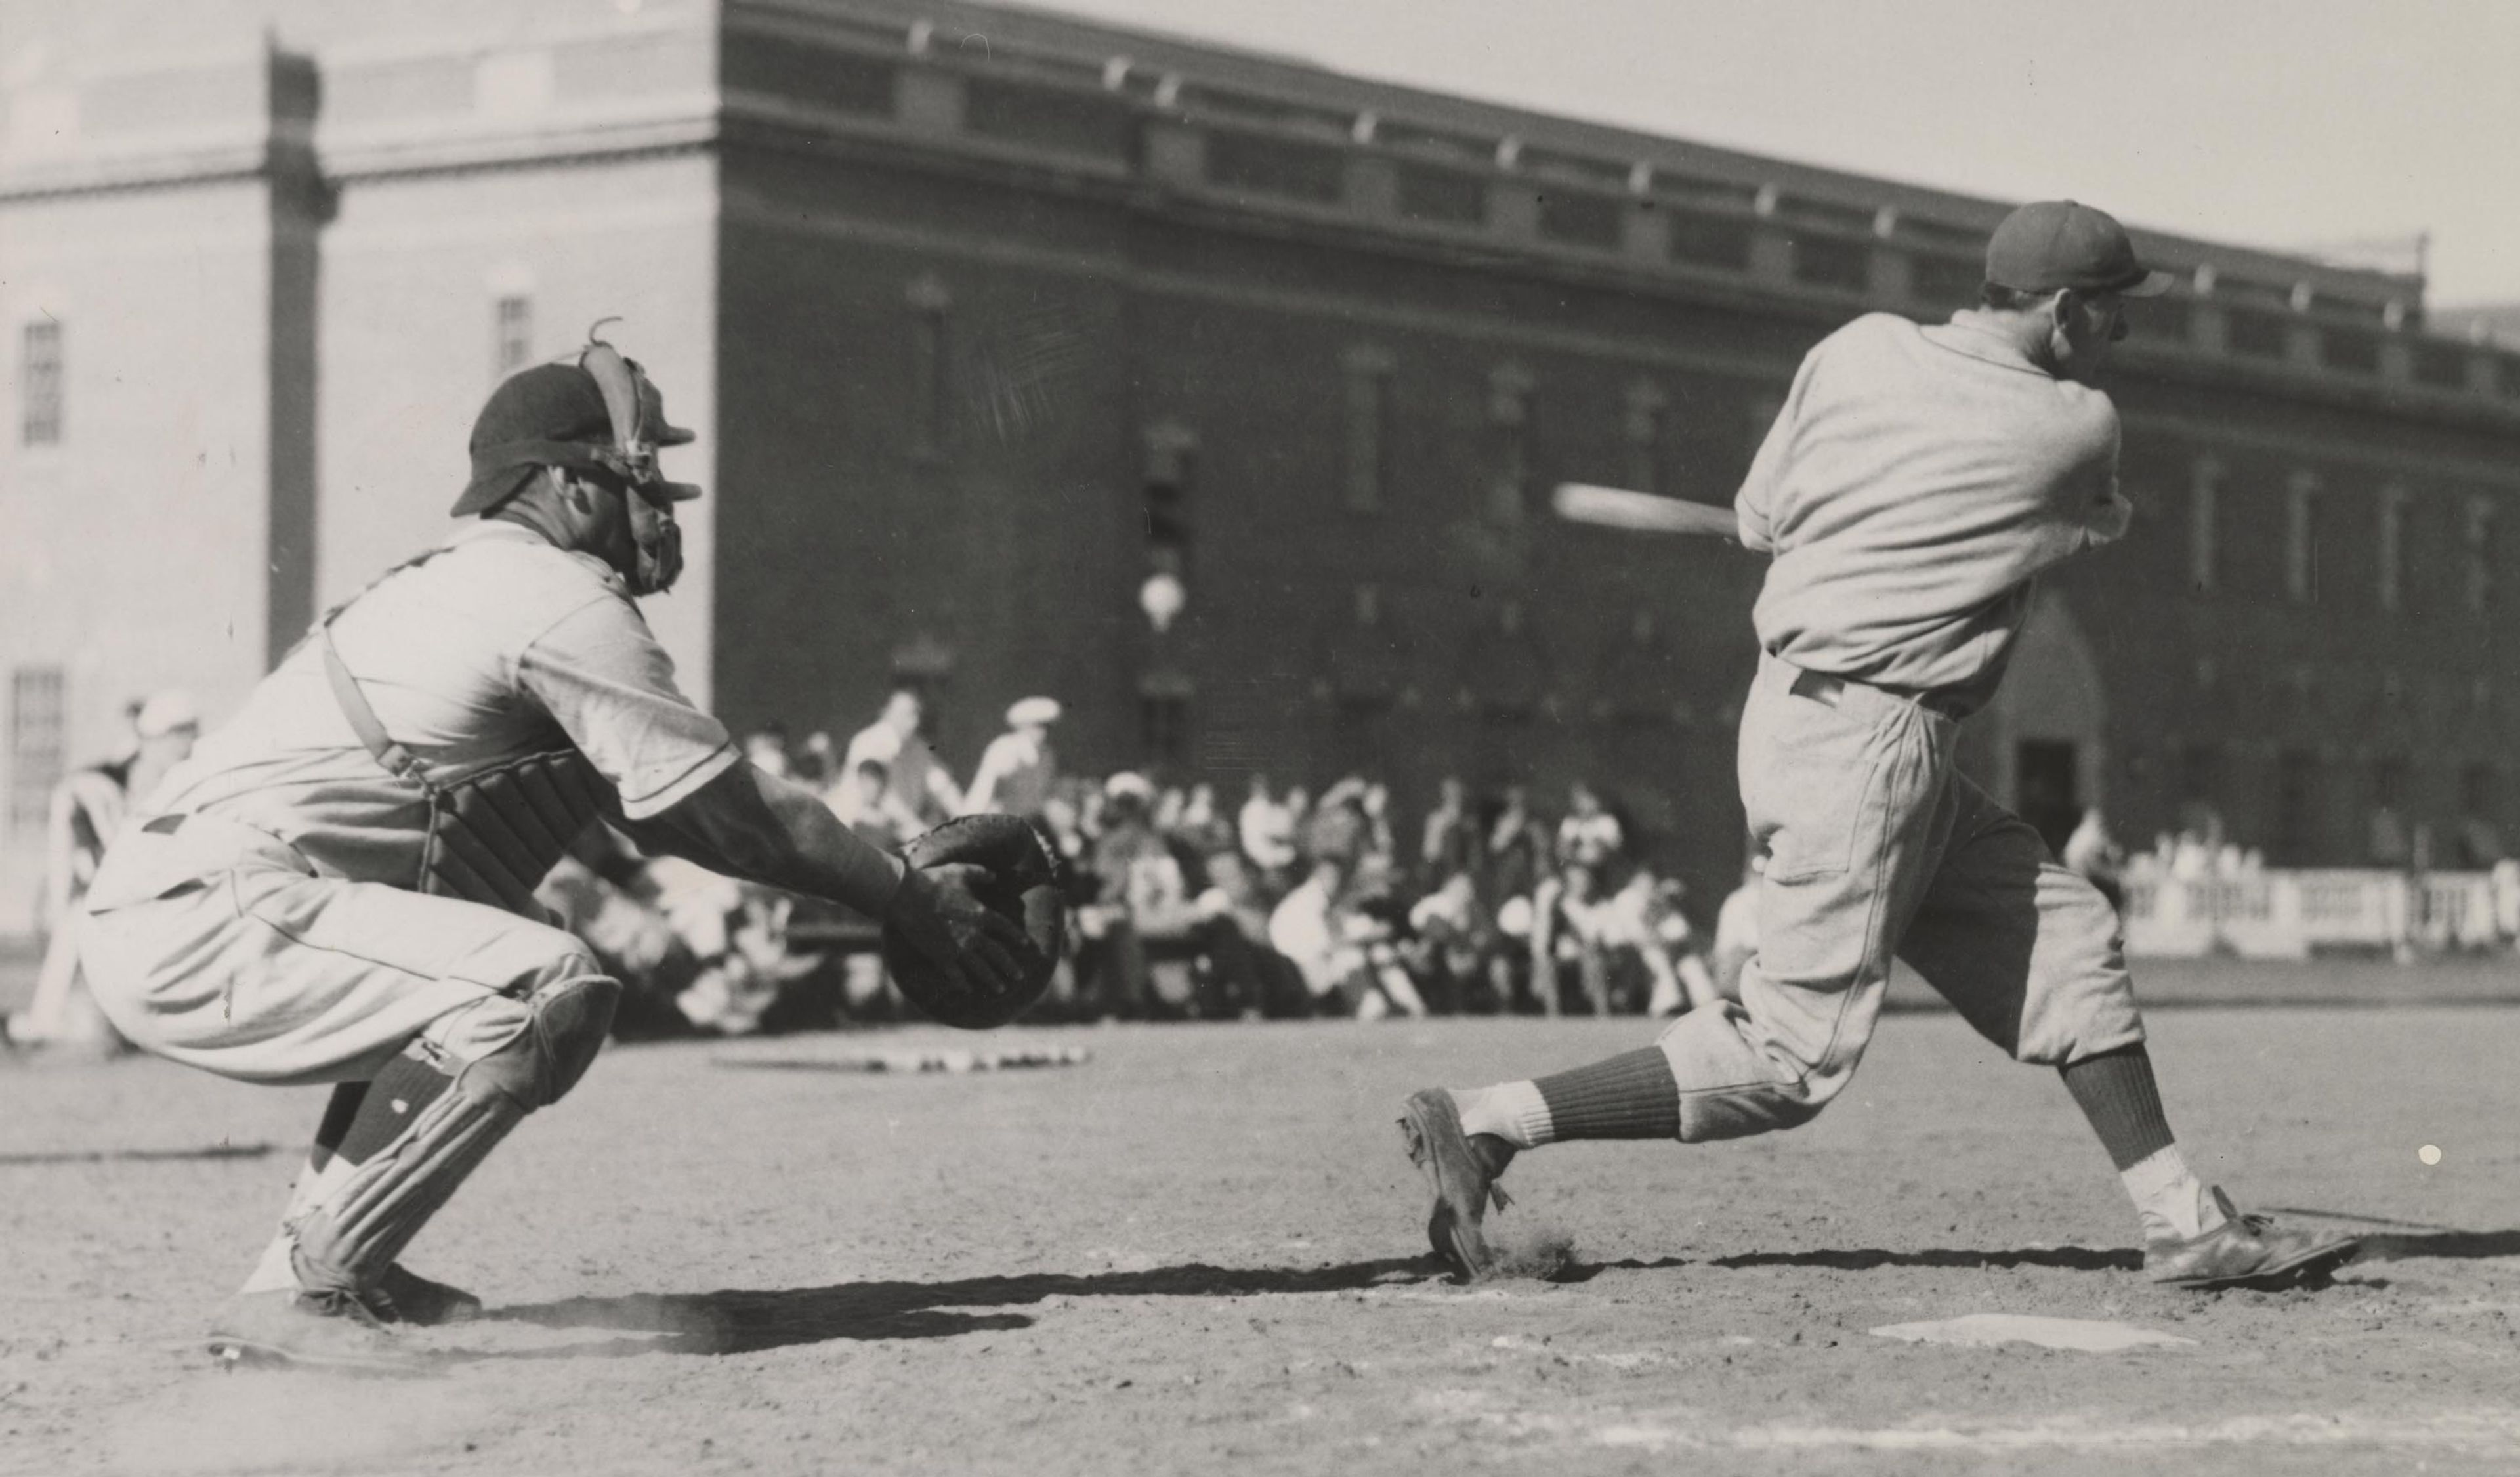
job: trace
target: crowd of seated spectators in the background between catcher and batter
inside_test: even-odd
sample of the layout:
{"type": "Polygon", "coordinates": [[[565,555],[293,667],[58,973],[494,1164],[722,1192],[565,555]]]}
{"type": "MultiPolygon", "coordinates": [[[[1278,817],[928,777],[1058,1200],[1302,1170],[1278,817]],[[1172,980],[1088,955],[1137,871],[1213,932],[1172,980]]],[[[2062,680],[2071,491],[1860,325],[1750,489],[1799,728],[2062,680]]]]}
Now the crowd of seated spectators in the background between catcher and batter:
{"type": "MultiPolygon", "coordinates": [[[[1719,1001],[1749,955],[1749,907],[1704,945],[1683,887],[1630,844],[1590,786],[1542,819],[1525,786],[1474,799],[1441,781],[1416,827],[1391,791],[1346,776],[1318,796],[1252,776],[1240,796],[1144,774],[1061,774],[1051,698],[958,786],[922,733],[917,691],[837,744],[779,728],[753,764],[819,789],[869,842],[900,849],[953,814],[1033,819],[1068,862],[1071,928],[1033,1018],[1361,1021],[1431,1013],[1656,1013],[1719,1001]]],[[[544,900],[630,983],[625,1033],[751,1033],[905,1013],[872,920],[645,862],[602,837],[544,900]]]]}

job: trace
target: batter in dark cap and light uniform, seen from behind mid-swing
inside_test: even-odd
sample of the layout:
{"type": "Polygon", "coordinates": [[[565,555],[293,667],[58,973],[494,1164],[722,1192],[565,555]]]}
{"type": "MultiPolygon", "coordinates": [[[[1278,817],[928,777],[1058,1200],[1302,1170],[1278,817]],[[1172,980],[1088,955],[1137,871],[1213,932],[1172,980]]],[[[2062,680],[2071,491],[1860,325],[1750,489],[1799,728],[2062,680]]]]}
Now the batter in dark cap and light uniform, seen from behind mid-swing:
{"type": "Polygon", "coordinates": [[[1643,1051],[1409,1099],[1436,1187],[1429,1238],[1489,1265],[1484,1210],[1522,1149],[1560,1139],[1734,1139],[1809,1122],[1855,1074],[1893,955],[2019,1061],[2056,1066],[2099,1134],[2170,1285],[2255,1283],[2341,1260],[2197,1182],[2170,1132],[2117,915],[1953,766],[1996,691],[2036,577],[2127,532],[2117,408],[2097,388],[2124,300],[2165,292],[2127,232],[2076,202],[2016,209],[1981,305],[1885,313],[1819,343],[1749,469],[1741,542],[1769,555],[1739,781],[1759,950],[1739,1003],[1643,1051]]]}

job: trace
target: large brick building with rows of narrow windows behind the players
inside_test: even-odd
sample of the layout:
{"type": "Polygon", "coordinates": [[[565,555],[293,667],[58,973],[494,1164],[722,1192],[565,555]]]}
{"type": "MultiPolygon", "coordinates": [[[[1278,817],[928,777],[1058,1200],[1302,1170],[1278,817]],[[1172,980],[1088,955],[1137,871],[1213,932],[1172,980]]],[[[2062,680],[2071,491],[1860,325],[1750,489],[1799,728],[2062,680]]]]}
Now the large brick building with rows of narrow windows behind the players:
{"type": "MultiPolygon", "coordinates": [[[[605,315],[701,431],[653,615],[731,723],[917,678],[965,771],[1048,691],[1081,769],[1593,776],[1714,885],[1756,567],[1545,489],[1726,502],[1802,350],[1963,305],[2006,209],[945,0],[13,30],[0,928],[123,698],[229,708],[605,315]]],[[[2112,386],[2142,514],[2049,587],[1976,769],[2281,862],[2495,844],[2520,358],[2429,335],[2419,277],[2139,239],[2185,277],[2112,386]]]]}

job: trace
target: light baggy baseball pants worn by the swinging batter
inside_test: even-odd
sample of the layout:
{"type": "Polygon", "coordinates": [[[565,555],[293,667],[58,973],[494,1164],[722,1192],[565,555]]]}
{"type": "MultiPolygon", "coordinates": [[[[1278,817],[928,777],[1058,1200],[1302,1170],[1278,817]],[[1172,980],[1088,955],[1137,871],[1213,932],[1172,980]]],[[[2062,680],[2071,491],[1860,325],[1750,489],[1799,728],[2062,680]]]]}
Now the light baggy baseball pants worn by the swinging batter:
{"type": "Polygon", "coordinates": [[[1802,678],[1761,655],[1741,711],[1741,804],[1767,852],[1759,953],[1739,1003],[1658,1041],[1681,1139],[1809,1122],[1862,1061],[1893,958],[2019,1061],[2139,1043],[2117,912],[1958,774],[1958,721],[1802,678]]]}

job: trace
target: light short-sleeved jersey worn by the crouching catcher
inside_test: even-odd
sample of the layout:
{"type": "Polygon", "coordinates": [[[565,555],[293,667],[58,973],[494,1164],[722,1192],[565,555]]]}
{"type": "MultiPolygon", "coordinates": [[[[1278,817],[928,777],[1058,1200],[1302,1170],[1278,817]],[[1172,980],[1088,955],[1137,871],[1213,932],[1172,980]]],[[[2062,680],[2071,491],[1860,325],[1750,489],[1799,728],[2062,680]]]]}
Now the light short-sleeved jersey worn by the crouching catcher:
{"type": "MultiPolygon", "coordinates": [[[[433,776],[575,744],[653,817],[738,759],[726,728],[673,683],[673,658],[595,555],[509,522],[474,522],[333,620],[343,665],[386,733],[433,776]]],[[[360,882],[418,875],[426,802],[360,746],[300,643],[149,796],[151,814],[212,812],[360,882]]]]}

